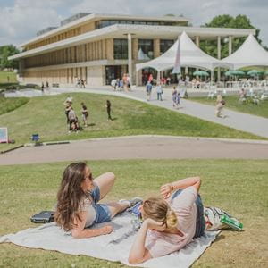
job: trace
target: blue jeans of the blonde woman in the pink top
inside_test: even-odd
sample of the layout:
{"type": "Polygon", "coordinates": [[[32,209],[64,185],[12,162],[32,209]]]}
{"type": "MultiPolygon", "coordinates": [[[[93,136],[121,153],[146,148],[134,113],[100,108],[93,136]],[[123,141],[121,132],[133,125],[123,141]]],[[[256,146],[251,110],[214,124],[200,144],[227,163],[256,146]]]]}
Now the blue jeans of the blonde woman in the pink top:
{"type": "MultiPolygon", "coordinates": [[[[175,197],[178,197],[181,192],[182,192],[182,189],[179,189],[176,192],[174,192],[172,194],[172,199],[174,199],[175,197]]],[[[196,205],[197,205],[197,224],[196,224],[196,232],[195,232],[194,239],[202,237],[205,233],[204,206],[203,206],[202,199],[199,194],[197,196],[196,205]]]]}

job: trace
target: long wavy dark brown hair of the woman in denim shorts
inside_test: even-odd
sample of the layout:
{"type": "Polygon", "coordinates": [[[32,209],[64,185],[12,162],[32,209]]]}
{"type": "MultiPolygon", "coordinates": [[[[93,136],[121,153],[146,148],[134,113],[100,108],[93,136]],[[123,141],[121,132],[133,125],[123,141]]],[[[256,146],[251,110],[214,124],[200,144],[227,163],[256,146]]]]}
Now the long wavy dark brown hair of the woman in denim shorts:
{"type": "Polygon", "coordinates": [[[86,166],[87,164],[84,162],[71,163],[63,172],[63,180],[57,194],[55,213],[55,222],[63,230],[71,230],[73,228],[75,217],[80,219],[80,202],[85,197],[85,193],[81,188],[81,182],[85,180],[86,166]]]}

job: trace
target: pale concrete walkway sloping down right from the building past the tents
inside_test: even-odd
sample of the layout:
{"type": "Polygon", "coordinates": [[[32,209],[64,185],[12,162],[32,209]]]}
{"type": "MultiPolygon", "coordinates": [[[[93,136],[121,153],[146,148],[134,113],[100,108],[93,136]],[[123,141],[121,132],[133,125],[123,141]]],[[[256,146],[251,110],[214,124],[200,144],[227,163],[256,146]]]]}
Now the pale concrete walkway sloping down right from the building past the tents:
{"type": "MultiPolygon", "coordinates": [[[[98,94],[108,94],[113,96],[123,96],[139,101],[147,102],[145,88],[136,88],[131,92],[114,92],[111,87],[103,88],[53,88],[53,94],[63,92],[88,92],[98,94]]],[[[178,113],[188,114],[206,121],[213,121],[224,126],[242,130],[255,134],[260,137],[268,138],[268,119],[260,116],[255,116],[247,113],[234,112],[229,109],[224,109],[225,118],[218,118],[214,115],[215,108],[212,105],[203,105],[197,102],[192,102],[186,99],[181,99],[180,109],[172,107],[172,90],[163,89],[163,101],[157,101],[156,92],[153,89],[151,101],[147,102],[150,105],[157,105],[176,111],[178,113]]],[[[228,104],[227,104],[228,105],[228,104]]]]}

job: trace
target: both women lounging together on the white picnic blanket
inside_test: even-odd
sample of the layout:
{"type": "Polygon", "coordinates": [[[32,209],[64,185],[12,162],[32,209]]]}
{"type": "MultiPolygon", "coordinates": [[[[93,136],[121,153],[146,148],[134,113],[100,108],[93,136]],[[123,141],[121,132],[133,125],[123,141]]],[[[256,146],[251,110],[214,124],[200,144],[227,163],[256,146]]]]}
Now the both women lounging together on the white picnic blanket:
{"type": "Polygon", "coordinates": [[[166,183],[160,187],[159,197],[99,203],[111,191],[114,182],[112,172],[94,179],[86,163],[68,165],[57,194],[57,225],[71,231],[75,239],[106,235],[113,232],[112,225],[107,223],[96,228],[96,223],[110,222],[115,215],[139,203],[142,223],[130,248],[130,264],[171,254],[192,239],[203,236],[205,230],[214,229],[205,218],[206,208],[198,194],[199,177],[166,183]]]}

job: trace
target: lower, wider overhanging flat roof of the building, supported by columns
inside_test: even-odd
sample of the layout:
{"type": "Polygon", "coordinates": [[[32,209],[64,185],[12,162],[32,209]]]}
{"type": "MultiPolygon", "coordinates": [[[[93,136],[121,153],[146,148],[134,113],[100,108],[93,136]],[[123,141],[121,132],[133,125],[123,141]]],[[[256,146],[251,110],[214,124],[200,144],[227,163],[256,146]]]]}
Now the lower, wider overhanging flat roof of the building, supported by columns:
{"type": "Polygon", "coordinates": [[[232,29],[232,28],[206,28],[206,27],[182,27],[182,26],[155,26],[155,25],[131,25],[114,24],[102,29],[96,29],[73,38],[63,39],[46,46],[31,49],[21,54],[9,57],[9,60],[26,58],[38,54],[45,54],[70,46],[78,46],[88,42],[98,41],[107,38],[127,38],[127,34],[133,34],[133,38],[161,38],[176,39],[185,31],[189,37],[200,37],[209,39],[218,36],[223,37],[246,37],[249,34],[255,35],[255,29],[232,29]]]}

